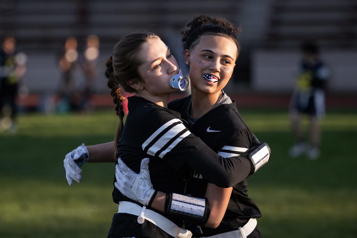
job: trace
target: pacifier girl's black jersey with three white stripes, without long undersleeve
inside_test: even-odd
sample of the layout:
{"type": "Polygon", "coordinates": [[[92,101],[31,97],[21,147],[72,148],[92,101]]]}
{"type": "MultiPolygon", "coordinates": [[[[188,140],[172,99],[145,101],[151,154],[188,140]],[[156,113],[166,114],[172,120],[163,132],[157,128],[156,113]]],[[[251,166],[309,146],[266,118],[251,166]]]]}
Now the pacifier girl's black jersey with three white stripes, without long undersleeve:
{"type": "MultiPolygon", "coordinates": [[[[183,178],[187,176],[187,169],[185,172],[182,168],[182,164],[185,163],[185,157],[181,156],[182,151],[187,155],[186,158],[190,158],[205,145],[200,140],[192,140],[193,135],[183,126],[177,112],[137,96],[128,98],[128,107],[129,113],[117,146],[117,157],[120,157],[136,173],[140,172],[141,159],[149,157],[150,178],[154,189],[183,193],[186,185],[183,178]]],[[[115,203],[135,202],[116,188],[112,196],[115,203]]],[[[161,212],[158,213],[167,217],[161,212]]],[[[109,235],[170,237],[151,222],[145,220],[143,224],[139,224],[136,220],[137,216],[131,214],[115,214],[109,235]]],[[[179,227],[182,226],[180,219],[171,217],[170,220],[179,227]]]]}

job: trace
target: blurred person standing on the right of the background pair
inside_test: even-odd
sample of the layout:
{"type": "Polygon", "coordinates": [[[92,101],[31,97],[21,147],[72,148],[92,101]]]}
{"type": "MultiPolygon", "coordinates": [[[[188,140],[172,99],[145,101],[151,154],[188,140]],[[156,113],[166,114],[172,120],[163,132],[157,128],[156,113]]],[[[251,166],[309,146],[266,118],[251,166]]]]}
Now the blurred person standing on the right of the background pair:
{"type": "Polygon", "coordinates": [[[96,80],[95,60],[99,56],[99,38],[96,35],[87,37],[87,46],[84,51],[84,61],[82,63],[85,73],[85,88],[82,94],[80,109],[83,111],[92,111],[94,106],[90,102],[90,97],[94,92],[96,80]]]}

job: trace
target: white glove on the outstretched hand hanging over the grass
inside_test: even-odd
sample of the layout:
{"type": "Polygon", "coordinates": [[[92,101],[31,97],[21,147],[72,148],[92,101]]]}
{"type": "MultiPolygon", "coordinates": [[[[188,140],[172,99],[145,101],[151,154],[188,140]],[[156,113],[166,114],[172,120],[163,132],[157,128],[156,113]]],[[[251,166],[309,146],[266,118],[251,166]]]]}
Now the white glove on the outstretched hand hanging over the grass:
{"type": "Polygon", "coordinates": [[[66,179],[69,186],[72,185],[72,179],[77,183],[82,181],[80,167],[89,159],[89,153],[84,144],[68,153],[63,161],[66,170],[66,179]]]}

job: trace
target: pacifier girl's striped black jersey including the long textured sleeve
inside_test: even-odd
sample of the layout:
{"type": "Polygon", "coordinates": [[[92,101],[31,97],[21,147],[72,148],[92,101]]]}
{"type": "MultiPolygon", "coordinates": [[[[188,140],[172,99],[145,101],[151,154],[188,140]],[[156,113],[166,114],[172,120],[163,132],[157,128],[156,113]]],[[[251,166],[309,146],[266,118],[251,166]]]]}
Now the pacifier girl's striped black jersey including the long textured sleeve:
{"type": "MultiPolygon", "coordinates": [[[[128,108],[129,113],[117,145],[117,157],[121,157],[137,173],[140,171],[141,159],[149,157],[154,189],[184,193],[185,178],[189,176],[187,167],[204,174],[210,182],[221,187],[230,187],[250,174],[250,159],[245,156],[218,156],[183,125],[179,113],[137,96],[128,98],[128,108]]],[[[115,203],[134,202],[116,188],[112,195],[115,203]]],[[[182,226],[182,221],[169,218],[179,227],[182,226]]],[[[109,235],[170,237],[154,224],[147,221],[139,224],[136,216],[126,213],[114,214],[109,235]]]]}

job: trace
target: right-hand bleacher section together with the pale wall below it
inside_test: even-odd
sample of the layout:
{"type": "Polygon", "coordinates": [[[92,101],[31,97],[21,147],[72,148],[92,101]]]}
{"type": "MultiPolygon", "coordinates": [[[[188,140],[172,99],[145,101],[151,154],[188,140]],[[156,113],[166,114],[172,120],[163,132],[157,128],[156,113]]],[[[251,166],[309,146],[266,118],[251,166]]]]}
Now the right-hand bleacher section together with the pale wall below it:
{"type": "Polygon", "coordinates": [[[271,0],[266,21],[264,42],[251,52],[256,91],[291,92],[299,46],[314,41],[332,71],[330,95],[356,97],[356,0],[271,0]]]}

